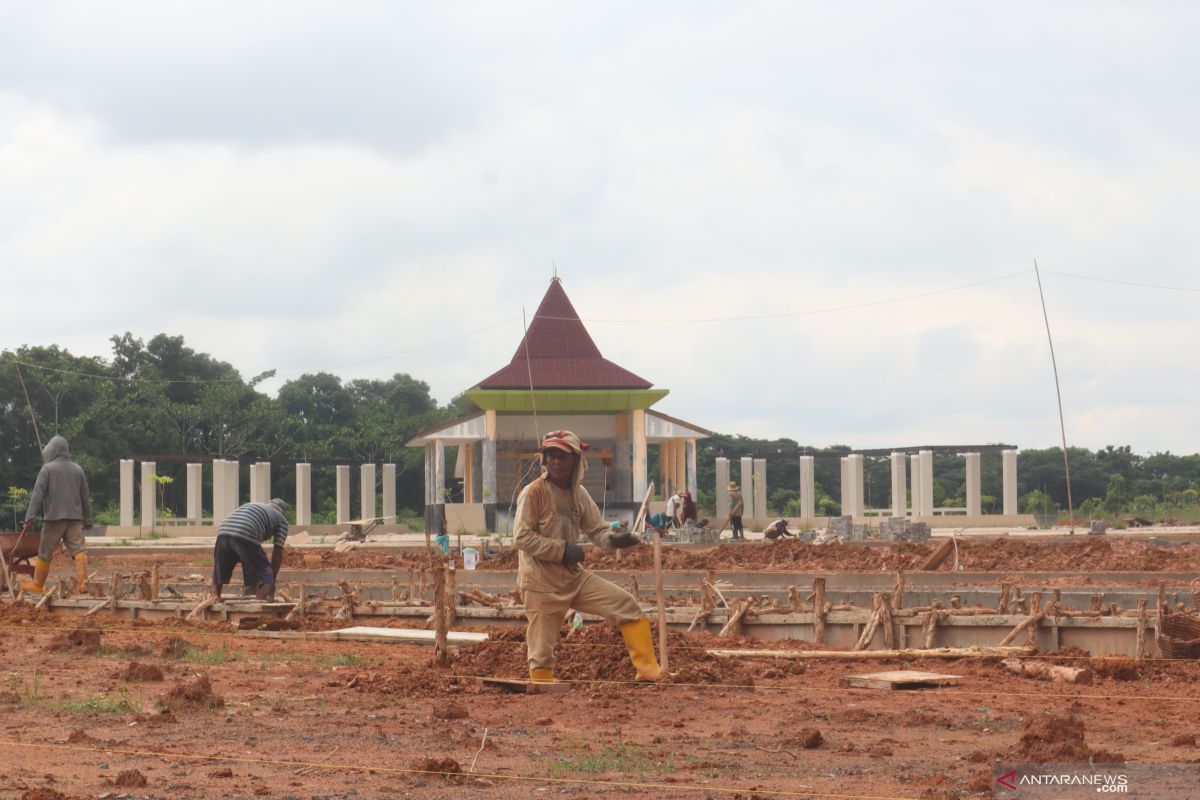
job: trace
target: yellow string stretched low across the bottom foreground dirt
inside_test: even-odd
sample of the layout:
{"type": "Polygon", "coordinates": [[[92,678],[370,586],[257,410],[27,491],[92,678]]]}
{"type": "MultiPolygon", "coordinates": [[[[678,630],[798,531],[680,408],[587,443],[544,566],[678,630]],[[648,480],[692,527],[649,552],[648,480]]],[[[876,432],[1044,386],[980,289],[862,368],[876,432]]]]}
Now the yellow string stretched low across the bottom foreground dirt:
{"type": "MultiPolygon", "coordinates": [[[[232,764],[251,764],[251,765],[271,765],[271,766],[286,766],[294,768],[301,766],[306,769],[324,769],[324,770],[348,770],[353,772],[383,772],[390,775],[442,775],[451,778],[487,778],[494,781],[524,781],[529,783],[566,783],[575,786],[595,786],[595,787],[625,787],[635,789],[668,789],[673,792],[724,792],[726,794],[740,794],[740,793],[754,793],[754,794],[768,794],[776,798],[811,798],[814,792],[788,792],[786,789],[745,789],[739,787],[722,787],[722,786],[696,786],[688,783],[648,783],[638,781],[590,781],[587,778],[569,778],[569,777],[542,777],[536,775],[499,775],[494,772],[440,772],[434,770],[419,770],[413,768],[403,766],[364,766],[361,764],[335,764],[331,762],[304,762],[304,760],[289,760],[289,759],[272,759],[272,758],[241,758],[238,756],[203,756],[197,753],[173,753],[169,751],[155,751],[155,750],[126,750],[121,747],[83,747],[79,745],[56,745],[49,742],[34,742],[34,741],[14,741],[14,740],[2,740],[0,739],[0,745],[7,747],[37,747],[43,750],[59,750],[59,751],[73,751],[73,752],[86,752],[86,753],[103,753],[112,756],[138,756],[144,758],[166,758],[166,759],[178,759],[178,760],[197,760],[197,762],[227,762],[232,764]]],[[[868,794],[832,794],[828,792],[821,792],[821,796],[824,798],[836,798],[839,800],[917,800],[916,798],[898,798],[893,795],[868,795],[868,794]]]]}

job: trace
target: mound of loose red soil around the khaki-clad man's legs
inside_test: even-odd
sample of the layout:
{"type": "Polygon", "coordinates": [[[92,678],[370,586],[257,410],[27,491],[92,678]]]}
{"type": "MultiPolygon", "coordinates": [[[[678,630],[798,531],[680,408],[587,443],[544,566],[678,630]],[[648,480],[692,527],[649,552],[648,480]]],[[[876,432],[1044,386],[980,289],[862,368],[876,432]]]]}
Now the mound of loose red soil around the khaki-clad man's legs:
{"type": "MultiPolygon", "coordinates": [[[[629,662],[620,631],[610,624],[588,625],[568,631],[556,648],[554,675],[562,680],[630,681],[634,667],[629,662]]],[[[754,673],[736,660],[718,658],[704,651],[694,637],[671,631],[671,673],[674,682],[722,684],[750,686],[754,673]]],[[[722,639],[722,646],[736,646],[722,639]]],[[[454,661],[454,670],[466,675],[524,678],[529,674],[524,631],[497,631],[487,642],[462,648],[454,661]]]]}

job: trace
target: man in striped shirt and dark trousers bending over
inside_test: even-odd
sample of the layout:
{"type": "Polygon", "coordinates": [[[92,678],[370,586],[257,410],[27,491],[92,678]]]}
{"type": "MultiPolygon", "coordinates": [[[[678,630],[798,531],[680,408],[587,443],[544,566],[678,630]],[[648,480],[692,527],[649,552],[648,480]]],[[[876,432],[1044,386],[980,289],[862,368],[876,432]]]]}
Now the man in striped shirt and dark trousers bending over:
{"type": "Polygon", "coordinates": [[[229,583],[239,564],[242,583],[254,588],[254,596],[259,600],[270,596],[275,576],[283,564],[283,542],[288,539],[288,519],[283,516],[287,507],[280,498],[270,503],[247,503],[221,523],[212,548],[212,591],[218,600],[221,587],[229,583]],[[274,542],[270,561],[263,549],[268,539],[274,542]]]}

